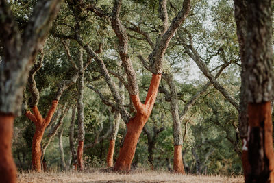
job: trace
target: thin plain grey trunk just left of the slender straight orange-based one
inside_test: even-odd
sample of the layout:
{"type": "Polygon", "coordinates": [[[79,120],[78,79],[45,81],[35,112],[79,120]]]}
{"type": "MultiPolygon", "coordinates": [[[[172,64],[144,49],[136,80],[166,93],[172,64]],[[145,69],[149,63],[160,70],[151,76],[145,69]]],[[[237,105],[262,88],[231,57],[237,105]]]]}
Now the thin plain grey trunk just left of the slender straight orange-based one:
{"type": "Polygon", "coordinates": [[[71,148],[72,164],[77,164],[77,151],[74,146],[74,125],[75,125],[76,109],[73,107],[71,114],[71,125],[69,127],[69,147],[71,148]]]}

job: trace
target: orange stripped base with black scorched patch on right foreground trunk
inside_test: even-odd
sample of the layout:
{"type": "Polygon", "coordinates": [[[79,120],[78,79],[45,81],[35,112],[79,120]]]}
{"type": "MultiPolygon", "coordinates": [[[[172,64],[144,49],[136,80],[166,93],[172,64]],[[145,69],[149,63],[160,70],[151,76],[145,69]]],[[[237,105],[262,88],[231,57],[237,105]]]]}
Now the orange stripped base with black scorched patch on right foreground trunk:
{"type": "Polygon", "coordinates": [[[271,103],[249,103],[248,160],[251,171],[247,182],[274,182],[274,153],[271,103]]]}

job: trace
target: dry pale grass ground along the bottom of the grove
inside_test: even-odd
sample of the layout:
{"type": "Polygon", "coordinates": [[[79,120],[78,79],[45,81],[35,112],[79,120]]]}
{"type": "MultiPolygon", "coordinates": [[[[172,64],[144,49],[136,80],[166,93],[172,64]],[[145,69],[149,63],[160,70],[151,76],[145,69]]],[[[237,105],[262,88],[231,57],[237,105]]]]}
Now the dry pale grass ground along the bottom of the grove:
{"type": "Polygon", "coordinates": [[[92,171],[79,173],[75,171],[49,172],[49,173],[18,173],[18,183],[44,183],[44,182],[84,182],[84,183],[163,183],[163,182],[186,182],[186,183],[236,183],[244,182],[242,176],[225,177],[219,175],[178,175],[166,171],[134,171],[127,174],[105,173],[92,171]]]}

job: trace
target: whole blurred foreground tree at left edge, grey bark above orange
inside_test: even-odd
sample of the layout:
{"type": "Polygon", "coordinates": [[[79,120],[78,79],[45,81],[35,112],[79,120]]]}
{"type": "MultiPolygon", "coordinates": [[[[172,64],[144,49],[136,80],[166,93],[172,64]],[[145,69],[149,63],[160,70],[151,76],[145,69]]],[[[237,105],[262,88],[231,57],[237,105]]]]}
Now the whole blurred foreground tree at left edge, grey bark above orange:
{"type": "Polygon", "coordinates": [[[16,182],[16,166],[10,152],[14,117],[20,115],[23,88],[30,66],[40,46],[44,45],[60,2],[37,1],[21,34],[12,16],[10,5],[5,0],[0,1],[0,35],[5,35],[0,36],[3,47],[3,61],[0,66],[0,129],[1,135],[5,135],[0,138],[0,144],[5,145],[5,150],[1,151],[0,177],[1,181],[6,183],[16,182]]]}

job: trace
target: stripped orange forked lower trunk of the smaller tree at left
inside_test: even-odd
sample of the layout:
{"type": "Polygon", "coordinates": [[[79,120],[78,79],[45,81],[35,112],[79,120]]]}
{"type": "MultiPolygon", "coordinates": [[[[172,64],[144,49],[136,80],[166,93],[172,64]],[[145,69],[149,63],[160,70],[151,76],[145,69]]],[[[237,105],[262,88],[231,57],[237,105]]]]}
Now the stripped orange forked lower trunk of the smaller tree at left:
{"type": "Polygon", "coordinates": [[[27,111],[25,113],[25,116],[32,120],[35,125],[35,132],[34,132],[34,138],[32,140],[32,170],[33,171],[41,171],[41,141],[42,136],[46,130],[47,125],[49,125],[49,122],[51,121],[51,118],[53,117],[53,114],[57,108],[58,101],[53,100],[52,106],[49,109],[49,112],[47,114],[47,117],[44,119],[42,118],[38,107],[34,106],[32,108],[32,112],[27,111]]]}

